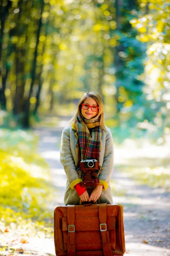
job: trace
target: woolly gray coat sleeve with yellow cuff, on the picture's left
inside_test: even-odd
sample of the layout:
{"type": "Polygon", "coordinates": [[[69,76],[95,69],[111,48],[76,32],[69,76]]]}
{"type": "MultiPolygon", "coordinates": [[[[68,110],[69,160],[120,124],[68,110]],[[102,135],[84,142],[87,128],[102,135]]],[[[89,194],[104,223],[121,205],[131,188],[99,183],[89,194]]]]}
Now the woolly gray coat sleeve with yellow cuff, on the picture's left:
{"type": "Polygon", "coordinates": [[[60,148],[60,157],[59,161],[63,165],[65,174],[70,184],[71,189],[75,189],[75,185],[82,182],[82,179],[79,178],[76,166],[71,154],[70,147],[70,127],[66,126],[62,131],[61,136],[61,148],[60,148]]]}

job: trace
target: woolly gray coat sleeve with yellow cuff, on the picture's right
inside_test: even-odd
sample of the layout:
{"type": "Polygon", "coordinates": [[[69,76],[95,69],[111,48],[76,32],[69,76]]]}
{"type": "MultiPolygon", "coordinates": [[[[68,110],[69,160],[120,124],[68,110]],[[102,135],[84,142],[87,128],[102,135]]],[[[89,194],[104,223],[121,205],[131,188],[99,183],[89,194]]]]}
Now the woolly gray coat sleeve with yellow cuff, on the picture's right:
{"type": "Polygon", "coordinates": [[[113,150],[113,137],[111,130],[108,130],[106,135],[106,144],[105,144],[105,155],[102,164],[102,172],[99,174],[99,183],[103,185],[103,189],[108,188],[108,184],[111,180],[111,175],[114,169],[114,150],[113,150]]]}

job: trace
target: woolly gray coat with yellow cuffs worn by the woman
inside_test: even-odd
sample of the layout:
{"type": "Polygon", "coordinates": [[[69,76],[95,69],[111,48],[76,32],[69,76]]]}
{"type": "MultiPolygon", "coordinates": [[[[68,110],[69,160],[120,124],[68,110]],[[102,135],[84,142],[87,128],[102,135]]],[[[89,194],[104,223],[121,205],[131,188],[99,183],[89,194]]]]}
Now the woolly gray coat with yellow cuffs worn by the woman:
{"type": "MultiPolygon", "coordinates": [[[[60,148],[60,163],[64,166],[67,175],[67,183],[65,188],[64,203],[79,204],[80,198],[75,190],[75,185],[81,182],[78,172],[75,170],[76,144],[77,133],[72,129],[71,125],[66,126],[62,131],[61,148],[60,148]]],[[[99,165],[103,170],[98,174],[100,183],[103,184],[102,194],[97,203],[113,204],[112,192],[110,186],[111,174],[113,172],[113,138],[109,128],[107,131],[102,129],[102,149],[99,156],[99,165]]],[[[94,186],[86,188],[89,195],[94,189],[94,186]]]]}

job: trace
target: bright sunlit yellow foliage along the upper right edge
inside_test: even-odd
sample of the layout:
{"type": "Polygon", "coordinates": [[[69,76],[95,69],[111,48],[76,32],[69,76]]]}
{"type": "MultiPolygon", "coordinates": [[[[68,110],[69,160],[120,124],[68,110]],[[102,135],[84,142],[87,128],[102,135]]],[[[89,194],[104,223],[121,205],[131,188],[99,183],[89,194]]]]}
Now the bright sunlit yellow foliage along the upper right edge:
{"type": "Polygon", "coordinates": [[[147,43],[145,70],[141,79],[147,104],[144,112],[147,120],[156,125],[163,134],[170,130],[170,4],[168,0],[139,0],[138,17],[130,20],[136,28],[136,38],[147,43]],[[149,109],[150,106],[150,109],[149,109]]]}

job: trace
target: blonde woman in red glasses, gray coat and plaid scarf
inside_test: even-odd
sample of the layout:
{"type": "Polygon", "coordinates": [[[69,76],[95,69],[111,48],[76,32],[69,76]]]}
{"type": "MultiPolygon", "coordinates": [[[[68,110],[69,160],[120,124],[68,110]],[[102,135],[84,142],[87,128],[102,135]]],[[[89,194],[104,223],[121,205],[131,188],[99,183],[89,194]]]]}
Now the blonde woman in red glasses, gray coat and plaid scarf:
{"type": "Polygon", "coordinates": [[[85,93],[70,125],[62,131],[60,162],[67,175],[65,205],[77,205],[80,200],[112,204],[113,158],[113,138],[105,126],[102,99],[97,93],[85,93]],[[83,181],[80,161],[85,159],[99,161],[96,186],[83,188],[80,185],[83,181]]]}

